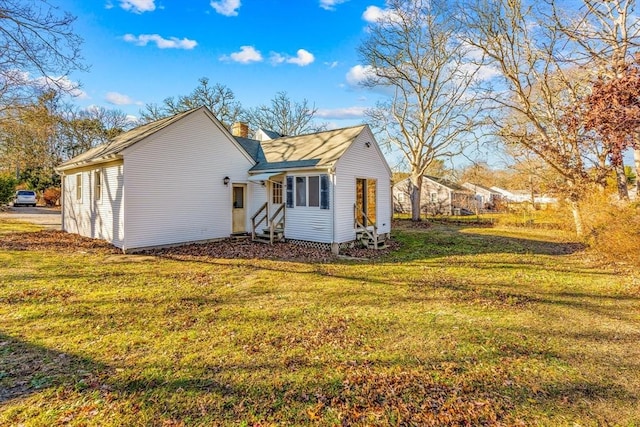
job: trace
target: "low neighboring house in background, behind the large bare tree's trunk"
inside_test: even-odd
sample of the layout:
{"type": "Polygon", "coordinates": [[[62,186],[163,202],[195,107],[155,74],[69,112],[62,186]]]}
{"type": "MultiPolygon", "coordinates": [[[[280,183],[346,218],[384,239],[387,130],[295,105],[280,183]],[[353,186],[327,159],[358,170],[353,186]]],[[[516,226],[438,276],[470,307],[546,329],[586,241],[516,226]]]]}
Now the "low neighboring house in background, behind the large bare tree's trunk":
{"type": "MultiPolygon", "coordinates": [[[[411,212],[410,179],[393,186],[394,211],[411,212]]],[[[460,215],[473,207],[473,193],[444,178],[425,175],[422,178],[420,211],[427,215],[460,215]]]]}

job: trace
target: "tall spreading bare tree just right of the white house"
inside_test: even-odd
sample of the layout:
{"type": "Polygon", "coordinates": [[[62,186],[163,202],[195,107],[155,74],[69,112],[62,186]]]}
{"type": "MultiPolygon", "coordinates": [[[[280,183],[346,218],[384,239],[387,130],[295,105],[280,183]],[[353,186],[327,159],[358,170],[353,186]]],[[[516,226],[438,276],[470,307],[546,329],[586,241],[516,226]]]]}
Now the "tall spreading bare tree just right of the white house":
{"type": "Polygon", "coordinates": [[[437,159],[460,153],[479,111],[471,90],[478,67],[460,39],[451,2],[390,0],[359,47],[369,87],[389,99],[369,110],[381,142],[399,149],[411,171],[411,217],[420,220],[422,178],[437,159]]]}

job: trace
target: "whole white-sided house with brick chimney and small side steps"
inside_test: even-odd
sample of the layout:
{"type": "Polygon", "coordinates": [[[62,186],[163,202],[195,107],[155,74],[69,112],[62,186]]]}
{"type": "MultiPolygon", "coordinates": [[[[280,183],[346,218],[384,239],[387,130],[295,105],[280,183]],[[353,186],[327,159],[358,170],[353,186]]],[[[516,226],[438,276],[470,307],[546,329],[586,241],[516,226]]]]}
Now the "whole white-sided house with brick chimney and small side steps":
{"type": "Polygon", "coordinates": [[[244,233],[336,251],[388,237],[391,171],[368,126],[263,141],[247,131],[202,107],[62,163],[63,229],[123,251],[244,233]]]}

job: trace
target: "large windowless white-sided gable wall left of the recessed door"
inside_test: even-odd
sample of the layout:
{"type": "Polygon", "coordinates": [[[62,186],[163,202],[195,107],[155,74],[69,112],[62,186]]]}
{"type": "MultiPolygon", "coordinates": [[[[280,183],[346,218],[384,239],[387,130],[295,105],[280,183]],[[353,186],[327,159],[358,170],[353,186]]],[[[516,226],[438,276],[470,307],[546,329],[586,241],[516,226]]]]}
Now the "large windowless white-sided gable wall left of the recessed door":
{"type": "MultiPolygon", "coordinates": [[[[204,111],[123,154],[125,249],[231,234],[232,183],[247,183],[252,162],[204,111]],[[226,186],[225,176],[231,179],[226,186]]],[[[254,210],[253,187],[247,185],[247,222],[254,210]]]]}

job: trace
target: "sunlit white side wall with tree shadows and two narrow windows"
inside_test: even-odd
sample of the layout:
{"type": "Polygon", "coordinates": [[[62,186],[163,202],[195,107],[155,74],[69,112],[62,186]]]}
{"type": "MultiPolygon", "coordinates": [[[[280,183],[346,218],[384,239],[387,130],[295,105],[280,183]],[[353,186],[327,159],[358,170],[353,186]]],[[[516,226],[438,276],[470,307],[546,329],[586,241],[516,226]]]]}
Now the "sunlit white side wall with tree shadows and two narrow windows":
{"type": "Polygon", "coordinates": [[[69,171],[64,175],[63,229],[94,239],[103,239],[121,248],[124,242],[123,168],[120,165],[69,171]],[[96,171],[102,173],[102,195],[95,195],[96,171]],[[82,176],[82,198],[76,198],[76,176],[82,176]]]}

